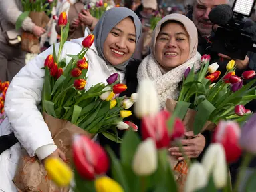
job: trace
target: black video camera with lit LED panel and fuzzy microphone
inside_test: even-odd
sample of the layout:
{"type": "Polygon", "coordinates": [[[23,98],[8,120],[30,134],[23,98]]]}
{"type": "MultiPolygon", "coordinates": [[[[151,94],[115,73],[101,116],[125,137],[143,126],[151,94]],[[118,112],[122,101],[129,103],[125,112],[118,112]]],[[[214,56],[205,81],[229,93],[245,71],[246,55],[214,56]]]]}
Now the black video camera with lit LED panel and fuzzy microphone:
{"type": "MultiPolygon", "coordinates": [[[[232,59],[244,60],[248,51],[256,52],[256,41],[245,30],[244,17],[250,17],[255,6],[254,0],[235,0],[233,7],[218,5],[209,13],[209,20],[217,24],[217,31],[211,39],[211,50],[228,55],[232,59]]],[[[254,26],[255,27],[255,26],[254,26]]]]}

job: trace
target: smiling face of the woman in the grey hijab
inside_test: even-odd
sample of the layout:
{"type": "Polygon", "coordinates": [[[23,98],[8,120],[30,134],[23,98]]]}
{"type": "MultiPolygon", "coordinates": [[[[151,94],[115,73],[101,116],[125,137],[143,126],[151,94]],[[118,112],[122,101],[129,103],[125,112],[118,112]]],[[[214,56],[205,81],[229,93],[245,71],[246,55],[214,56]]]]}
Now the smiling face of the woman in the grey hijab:
{"type": "Polygon", "coordinates": [[[132,57],[135,47],[135,25],[132,19],[127,17],[108,33],[103,46],[104,57],[112,65],[120,65],[132,57]]]}

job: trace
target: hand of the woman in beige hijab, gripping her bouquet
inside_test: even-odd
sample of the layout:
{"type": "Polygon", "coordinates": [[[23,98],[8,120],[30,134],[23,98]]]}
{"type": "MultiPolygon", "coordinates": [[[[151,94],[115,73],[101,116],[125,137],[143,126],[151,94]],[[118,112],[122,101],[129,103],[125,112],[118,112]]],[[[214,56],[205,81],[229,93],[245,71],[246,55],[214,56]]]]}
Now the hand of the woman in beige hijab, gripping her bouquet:
{"type": "MultiPolygon", "coordinates": [[[[180,142],[185,145],[183,148],[184,153],[189,158],[197,158],[205,148],[205,137],[202,134],[194,135],[193,131],[185,133],[186,137],[193,137],[192,139],[182,139],[180,142]]],[[[170,147],[170,155],[178,157],[179,161],[184,160],[182,152],[179,147],[170,147]]]]}

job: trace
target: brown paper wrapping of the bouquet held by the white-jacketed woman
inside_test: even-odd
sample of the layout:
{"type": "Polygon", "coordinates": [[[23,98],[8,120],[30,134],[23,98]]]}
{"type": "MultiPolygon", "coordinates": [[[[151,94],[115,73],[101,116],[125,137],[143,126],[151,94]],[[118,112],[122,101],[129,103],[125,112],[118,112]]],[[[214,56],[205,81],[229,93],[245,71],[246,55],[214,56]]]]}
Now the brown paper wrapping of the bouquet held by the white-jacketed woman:
{"type": "MultiPolygon", "coordinates": [[[[91,137],[89,133],[73,125],[69,121],[57,119],[43,113],[45,123],[51,131],[55,145],[66,155],[66,163],[72,165],[72,136],[83,134],[91,137]]],[[[17,190],[20,192],[68,192],[69,187],[58,187],[47,175],[47,171],[37,157],[29,157],[23,153],[19,160],[19,165],[13,179],[17,190]]]]}

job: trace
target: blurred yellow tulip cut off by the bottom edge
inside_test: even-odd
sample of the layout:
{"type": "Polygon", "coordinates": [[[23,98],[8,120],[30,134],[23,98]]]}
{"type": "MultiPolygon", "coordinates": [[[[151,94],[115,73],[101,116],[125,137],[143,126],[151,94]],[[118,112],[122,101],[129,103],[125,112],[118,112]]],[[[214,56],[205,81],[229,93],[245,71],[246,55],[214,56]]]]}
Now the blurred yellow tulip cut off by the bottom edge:
{"type": "Polygon", "coordinates": [[[109,177],[99,177],[94,182],[96,192],[124,192],[121,185],[109,177]]]}

